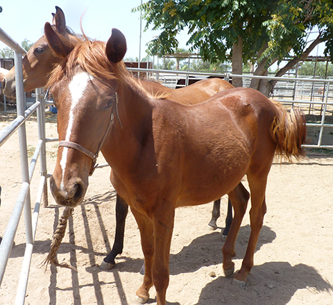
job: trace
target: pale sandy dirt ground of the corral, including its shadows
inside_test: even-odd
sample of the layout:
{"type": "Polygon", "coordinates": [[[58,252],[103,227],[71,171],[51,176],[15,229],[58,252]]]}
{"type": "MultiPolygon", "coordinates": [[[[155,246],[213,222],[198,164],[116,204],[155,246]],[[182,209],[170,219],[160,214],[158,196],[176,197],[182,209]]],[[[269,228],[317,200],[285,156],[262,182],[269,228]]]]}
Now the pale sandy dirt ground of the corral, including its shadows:
{"type": "MultiPolygon", "coordinates": [[[[0,122],[0,128],[6,122],[0,122]]],[[[27,123],[28,149],[37,141],[36,123],[27,123]]],[[[57,137],[56,123],[47,123],[46,136],[57,137]]],[[[18,136],[1,147],[0,236],[6,229],[20,188],[18,136]]],[[[47,144],[48,169],[56,162],[55,142],[47,144]]],[[[99,160],[103,163],[103,158],[99,160]]],[[[133,304],[142,283],[143,255],[133,215],[126,222],[123,254],[113,270],[99,265],[114,240],[115,192],[110,168],[96,170],[89,180],[85,201],[75,209],[58,251],[58,260],[77,272],[40,264],[49,252],[53,231],[63,211],[49,193],[35,236],[25,304],[133,304]]],[[[34,202],[38,170],[31,183],[34,202]]],[[[255,252],[255,266],[245,288],[232,286],[222,270],[221,229],[227,198],[221,204],[220,228],[207,229],[212,204],[178,208],[171,244],[168,304],[333,304],[333,156],[309,155],[293,164],[274,163],[268,176],[268,211],[255,252]]],[[[245,183],[246,184],[246,183],[245,183]]],[[[250,206],[250,205],[249,205],[250,206]]],[[[248,207],[249,210],[249,207],[248,207]]],[[[250,233],[248,211],[236,242],[235,270],[241,265],[250,233]]],[[[24,217],[0,288],[0,304],[14,304],[25,249],[24,217]]],[[[0,254],[1,255],[1,254],[0,254]]],[[[155,304],[152,288],[148,304],[155,304]]]]}

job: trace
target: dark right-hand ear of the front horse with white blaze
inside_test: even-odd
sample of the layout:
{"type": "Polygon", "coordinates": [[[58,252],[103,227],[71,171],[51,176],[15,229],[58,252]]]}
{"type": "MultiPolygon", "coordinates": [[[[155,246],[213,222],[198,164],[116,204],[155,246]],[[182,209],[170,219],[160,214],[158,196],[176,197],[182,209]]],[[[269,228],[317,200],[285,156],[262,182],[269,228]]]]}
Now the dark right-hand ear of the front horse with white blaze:
{"type": "Polygon", "coordinates": [[[112,28],[111,37],[106,43],[105,53],[108,56],[108,59],[112,63],[118,63],[125,56],[127,49],[126,38],[117,30],[117,28],[112,28]]]}

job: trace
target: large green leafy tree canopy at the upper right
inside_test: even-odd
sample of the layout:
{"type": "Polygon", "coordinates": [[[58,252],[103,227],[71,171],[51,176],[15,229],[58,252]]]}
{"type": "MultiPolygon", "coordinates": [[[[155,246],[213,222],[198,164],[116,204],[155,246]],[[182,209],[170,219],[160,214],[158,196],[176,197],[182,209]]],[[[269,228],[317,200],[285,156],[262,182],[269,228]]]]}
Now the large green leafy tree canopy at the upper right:
{"type": "MultiPolygon", "coordinates": [[[[160,31],[147,45],[160,56],[176,50],[177,34],[184,30],[190,51],[210,63],[230,59],[233,72],[250,60],[255,75],[267,75],[273,63],[291,58],[276,74],[282,76],[321,42],[325,53],[333,54],[332,0],[150,0],[134,10],[142,11],[145,30],[160,31]],[[309,41],[314,28],[318,33],[309,41]]],[[[274,85],[251,83],[267,95],[274,85]]]]}

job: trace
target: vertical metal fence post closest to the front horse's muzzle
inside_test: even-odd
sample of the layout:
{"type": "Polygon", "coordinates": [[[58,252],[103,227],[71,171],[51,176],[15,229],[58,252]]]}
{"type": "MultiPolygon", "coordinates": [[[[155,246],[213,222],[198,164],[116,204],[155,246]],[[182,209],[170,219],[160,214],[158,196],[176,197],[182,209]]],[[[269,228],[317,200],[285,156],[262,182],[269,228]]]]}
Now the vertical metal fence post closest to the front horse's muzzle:
{"type": "MultiPolygon", "coordinates": [[[[45,135],[45,99],[42,88],[36,89],[36,101],[40,101],[40,107],[37,108],[37,123],[38,123],[38,138],[43,141],[40,149],[40,174],[41,176],[47,176],[46,168],[46,135],[45,135]]],[[[44,184],[44,192],[42,196],[42,206],[46,208],[48,206],[47,197],[47,183],[44,184]]]]}

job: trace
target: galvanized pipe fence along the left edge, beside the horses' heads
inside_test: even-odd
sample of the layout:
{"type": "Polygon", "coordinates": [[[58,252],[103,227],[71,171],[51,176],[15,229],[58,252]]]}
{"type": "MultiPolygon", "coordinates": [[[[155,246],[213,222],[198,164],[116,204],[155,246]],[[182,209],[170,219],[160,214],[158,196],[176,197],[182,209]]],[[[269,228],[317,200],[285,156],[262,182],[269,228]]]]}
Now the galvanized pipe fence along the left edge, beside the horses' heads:
{"type": "MultiPolygon", "coordinates": [[[[12,214],[8,221],[8,226],[3,235],[0,244],[0,286],[3,280],[3,274],[6,270],[10,251],[17,231],[22,211],[24,211],[24,224],[26,233],[26,249],[24,253],[24,261],[22,264],[22,272],[18,283],[15,304],[24,304],[26,297],[26,286],[28,283],[28,274],[31,265],[31,256],[33,253],[33,243],[37,228],[37,220],[41,204],[47,205],[46,190],[46,149],[45,149],[45,106],[42,90],[37,90],[36,101],[30,108],[26,110],[23,88],[22,73],[22,56],[26,51],[12,40],[10,36],[0,28],[0,40],[11,47],[15,51],[15,79],[16,79],[16,100],[17,100],[17,118],[8,126],[0,131],[0,147],[12,136],[15,131],[19,133],[19,152],[22,172],[22,186],[17,197],[17,201],[13,208],[12,214]],[[28,149],[26,142],[26,119],[31,117],[37,110],[38,124],[38,142],[31,163],[28,164],[28,149]],[[31,194],[30,184],[35,170],[37,159],[40,157],[40,187],[35,199],[34,211],[31,213],[31,194]]],[[[1,211],[0,211],[1,217],[1,211]]],[[[1,220],[5,222],[6,220],[1,220]]]]}

